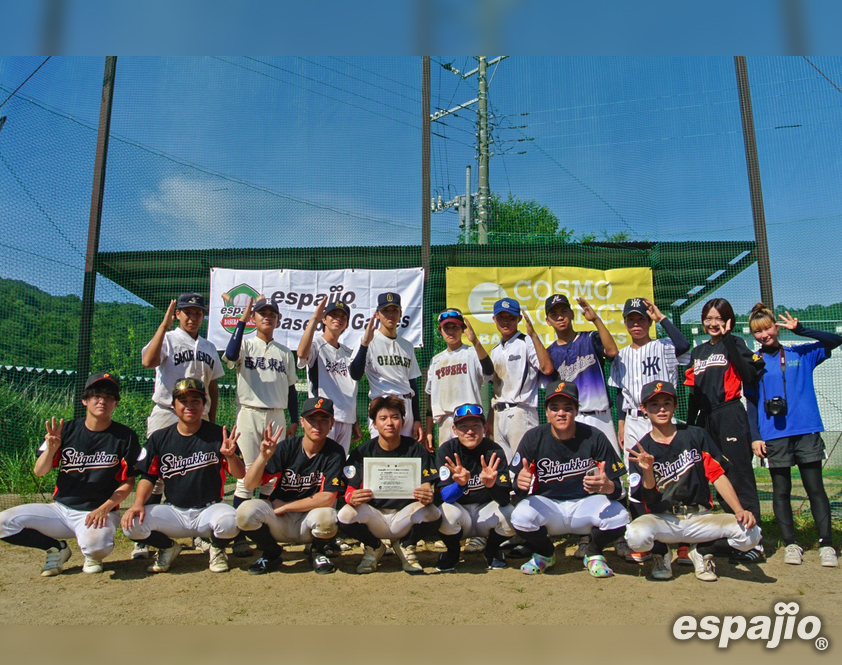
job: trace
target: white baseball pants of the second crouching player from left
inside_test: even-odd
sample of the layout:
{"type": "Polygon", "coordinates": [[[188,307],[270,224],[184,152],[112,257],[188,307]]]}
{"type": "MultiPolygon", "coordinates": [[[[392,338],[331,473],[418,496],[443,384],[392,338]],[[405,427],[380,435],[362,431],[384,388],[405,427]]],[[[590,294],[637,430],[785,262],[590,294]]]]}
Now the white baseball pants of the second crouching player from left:
{"type": "Polygon", "coordinates": [[[227,503],[213,503],[205,508],[176,508],[168,503],[146,506],[143,524],[135,520],[123,533],[130,540],[146,540],[153,531],[170,538],[216,538],[227,540],[239,533],[237,511],[227,503]]]}

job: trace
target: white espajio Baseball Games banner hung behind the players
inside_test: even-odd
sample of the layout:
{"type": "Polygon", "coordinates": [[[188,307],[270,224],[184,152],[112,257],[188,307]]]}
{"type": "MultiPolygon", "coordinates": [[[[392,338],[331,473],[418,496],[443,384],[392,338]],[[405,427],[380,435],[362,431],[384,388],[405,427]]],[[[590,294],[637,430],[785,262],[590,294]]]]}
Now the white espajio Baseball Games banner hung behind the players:
{"type": "MultiPolygon", "coordinates": [[[[374,311],[377,296],[394,291],[401,296],[403,318],[399,332],[413,346],[424,345],[424,270],[228,270],[211,268],[208,303],[208,339],[224,351],[248,299],[266,296],[278,305],[281,316],[275,339],[298,348],[298,342],[316,305],[327,297],[342,300],[351,309],[348,329],[341,342],[351,347],[359,342],[374,311]]],[[[321,331],[319,323],[318,330],[321,331]]],[[[246,336],[254,334],[246,326],[246,336]]]]}

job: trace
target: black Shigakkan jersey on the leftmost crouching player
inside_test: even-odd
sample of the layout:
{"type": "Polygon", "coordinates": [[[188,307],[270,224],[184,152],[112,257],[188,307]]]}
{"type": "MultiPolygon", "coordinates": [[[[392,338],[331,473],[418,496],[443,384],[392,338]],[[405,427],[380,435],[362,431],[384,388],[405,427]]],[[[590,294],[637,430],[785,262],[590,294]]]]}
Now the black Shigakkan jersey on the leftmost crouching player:
{"type": "MultiPolygon", "coordinates": [[[[46,449],[45,441],[38,452],[46,449]]],[[[53,468],[58,468],[53,498],[75,510],[99,508],[136,475],[139,454],[140,443],[130,427],[112,421],[108,429],[92,432],[84,418],[64,423],[61,446],[53,457],[53,468]]]]}

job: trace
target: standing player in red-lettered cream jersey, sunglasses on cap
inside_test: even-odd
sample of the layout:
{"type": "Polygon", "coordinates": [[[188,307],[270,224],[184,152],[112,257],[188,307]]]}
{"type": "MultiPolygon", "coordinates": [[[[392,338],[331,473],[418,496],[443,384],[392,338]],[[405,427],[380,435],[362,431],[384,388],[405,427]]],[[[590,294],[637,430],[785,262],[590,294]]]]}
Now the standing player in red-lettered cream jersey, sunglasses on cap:
{"type": "Polygon", "coordinates": [[[438,425],[441,446],[454,436],[453,410],[466,402],[480,404],[482,384],[494,374],[491,358],[461,311],[451,308],[439,314],[439,332],[447,349],[433,356],[427,370],[427,450],[434,448],[433,422],[438,425]],[[462,342],[463,331],[473,349],[462,342]]]}

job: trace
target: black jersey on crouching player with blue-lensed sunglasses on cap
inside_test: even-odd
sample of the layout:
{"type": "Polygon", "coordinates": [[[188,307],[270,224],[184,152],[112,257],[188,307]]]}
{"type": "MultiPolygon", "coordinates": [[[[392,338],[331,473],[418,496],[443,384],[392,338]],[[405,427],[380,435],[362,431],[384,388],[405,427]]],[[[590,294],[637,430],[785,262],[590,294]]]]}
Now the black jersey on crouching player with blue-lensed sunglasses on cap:
{"type": "Polygon", "coordinates": [[[459,439],[450,439],[445,441],[441,447],[436,451],[436,465],[439,473],[439,488],[447,487],[453,484],[453,477],[450,475],[450,469],[445,466],[447,457],[454,463],[456,459],[454,455],[459,455],[459,461],[471,473],[468,479],[468,484],[465,485],[465,490],[456,503],[470,504],[470,503],[488,503],[489,501],[496,501],[501,506],[509,503],[509,492],[512,489],[511,479],[509,477],[509,470],[506,466],[506,453],[503,449],[494,443],[491,439],[483,439],[476,448],[466,448],[459,439]],[[491,461],[491,456],[497,453],[497,459],[500,460],[500,466],[497,467],[497,480],[491,489],[487,488],[479,478],[482,473],[482,462],[480,457],[485,456],[485,463],[491,461]]]}

